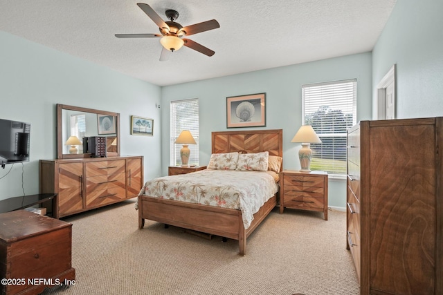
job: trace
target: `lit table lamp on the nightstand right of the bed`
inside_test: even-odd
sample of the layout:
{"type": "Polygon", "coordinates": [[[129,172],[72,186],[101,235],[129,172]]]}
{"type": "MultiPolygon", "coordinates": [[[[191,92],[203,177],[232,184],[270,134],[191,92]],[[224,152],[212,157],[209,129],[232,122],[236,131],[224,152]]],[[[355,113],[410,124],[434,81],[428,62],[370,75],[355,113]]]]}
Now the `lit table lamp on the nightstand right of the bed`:
{"type": "Polygon", "coordinates": [[[302,167],[300,172],[311,172],[309,167],[311,166],[312,150],[309,145],[321,143],[316,131],[310,125],[303,125],[298,129],[291,142],[302,144],[302,148],[298,151],[298,159],[300,159],[300,166],[302,167]]]}

